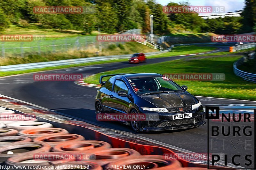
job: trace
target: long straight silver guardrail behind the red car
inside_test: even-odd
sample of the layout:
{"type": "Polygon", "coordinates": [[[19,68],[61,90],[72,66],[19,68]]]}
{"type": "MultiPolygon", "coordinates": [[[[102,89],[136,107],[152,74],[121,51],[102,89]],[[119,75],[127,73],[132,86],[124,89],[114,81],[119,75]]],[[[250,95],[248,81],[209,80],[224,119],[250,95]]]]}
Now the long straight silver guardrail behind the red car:
{"type": "MultiPolygon", "coordinates": [[[[146,55],[155,55],[168,52],[165,51],[157,51],[151,53],[145,53],[146,55]]],[[[80,64],[80,63],[90,63],[96,61],[107,61],[107,60],[117,60],[129,58],[131,54],[128,55],[111,55],[111,56],[99,56],[99,57],[90,57],[90,58],[78,58],[78,59],[70,59],[70,60],[60,60],[60,61],[51,61],[51,62],[41,62],[41,63],[28,63],[28,64],[16,64],[16,65],[6,65],[1,66],[0,71],[18,71],[18,70],[29,70],[29,69],[39,69],[45,67],[54,67],[61,65],[70,65],[70,64],[80,64]]]]}

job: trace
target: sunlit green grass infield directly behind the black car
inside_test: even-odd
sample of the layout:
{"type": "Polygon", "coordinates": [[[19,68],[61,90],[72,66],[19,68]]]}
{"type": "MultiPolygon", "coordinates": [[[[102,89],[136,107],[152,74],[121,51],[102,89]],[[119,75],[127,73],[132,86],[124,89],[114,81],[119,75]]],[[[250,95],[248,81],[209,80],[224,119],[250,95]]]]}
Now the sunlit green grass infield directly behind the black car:
{"type": "Polygon", "coordinates": [[[86,83],[99,84],[100,75],[116,73],[153,72],[170,73],[225,73],[225,81],[188,81],[177,80],[179,85],[187,85],[188,92],[196,96],[208,96],[228,99],[256,100],[256,86],[233,72],[233,63],[241,56],[214,57],[186,61],[184,59],[164,63],[148,64],[131,68],[123,68],[97,74],[85,80],[86,83]]]}

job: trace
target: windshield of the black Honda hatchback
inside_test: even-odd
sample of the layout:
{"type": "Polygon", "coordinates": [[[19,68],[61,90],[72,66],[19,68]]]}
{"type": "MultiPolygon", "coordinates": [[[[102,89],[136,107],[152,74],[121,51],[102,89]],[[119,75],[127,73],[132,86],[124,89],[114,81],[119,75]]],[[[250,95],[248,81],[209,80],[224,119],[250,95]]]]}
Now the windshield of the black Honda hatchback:
{"type": "Polygon", "coordinates": [[[166,77],[133,78],[129,81],[135,92],[141,95],[184,91],[166,77]]]}

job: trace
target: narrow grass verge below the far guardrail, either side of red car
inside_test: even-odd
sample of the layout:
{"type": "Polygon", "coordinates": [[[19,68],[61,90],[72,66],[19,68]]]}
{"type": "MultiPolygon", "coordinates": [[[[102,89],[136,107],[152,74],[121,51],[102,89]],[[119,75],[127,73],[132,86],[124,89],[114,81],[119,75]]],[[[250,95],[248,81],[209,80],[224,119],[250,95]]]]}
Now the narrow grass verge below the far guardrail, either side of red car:
{"type": "MultiPolygon", "coordinates": [[[[196,46],[182,46],[182,47],[175,47],[173,48],[172,52],[167,52],[164,54],[159,55],[152,55],[148,56],[148,58],[158,58],[158,57],[168,57],[168,56],[174,56],[174,55],[182,55],[182,54],[191,54],[195,52],[196,50],[200,51],[209,51],[214,48],[212,47],[196,47],[196,46]]],[[[0,77],[3,76],[11,76],[16,74],[24,74],[24,73],[32,73],[37,71],[45,71],[45,70],[54,70],[54,69],[63,69],[63,68],[71,68],[71,67],[79,67],[79,66],[87,66],[87,65],[94,65],[94,64],[103,64],[103,63],[114,63],[114,62],[123,62],[127,61],[127,59],[117,59],[117,60],[108,60],[108,61],[100,61],[100,62],[91,62],[91,63],[81,63],[81,64],[73,64],[73,65],[65,65],[65,66],[56,66],[56,67],[46,67],[42,69],[32,69],[32,70],[20,70],[20,71],[8,71],[3,72],[0,71],[0,77]]]]}

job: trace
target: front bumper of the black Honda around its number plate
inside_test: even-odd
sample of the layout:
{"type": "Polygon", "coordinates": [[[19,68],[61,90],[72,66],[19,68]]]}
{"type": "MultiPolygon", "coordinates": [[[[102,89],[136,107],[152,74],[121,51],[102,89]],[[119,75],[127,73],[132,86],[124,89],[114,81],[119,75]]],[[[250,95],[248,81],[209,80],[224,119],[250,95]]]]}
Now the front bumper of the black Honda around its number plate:
{"type": "MultiPolygon", "coordinates": [[[[140,110],[141,113],[146,113],[144,110],[140,110]]],[[[156,113],[152,112],[152,114],[157,114],[158,119],[154,121],[141,121],[142,123],[142,131],[156,131],[156,130],[175,130],[175,129],[187,129],[187,128],[195,128],[201,125],[205,125],[204,121],[205,112],[203,106],[199,107],[196,110],[190,110],[185,113],[192,113],[191,118],[184,119],[176,119],[173,120],[172,116],[177,114],[184,113],[156,113]]],[[[148,112],[147,112],[148,114],[148,112]]]]}

